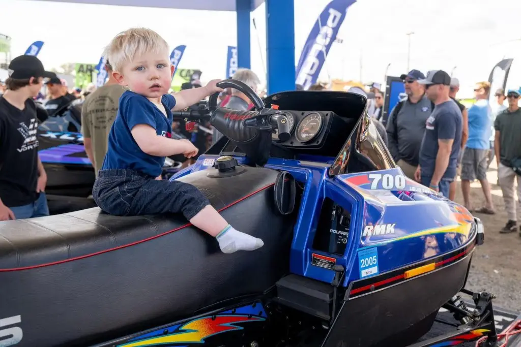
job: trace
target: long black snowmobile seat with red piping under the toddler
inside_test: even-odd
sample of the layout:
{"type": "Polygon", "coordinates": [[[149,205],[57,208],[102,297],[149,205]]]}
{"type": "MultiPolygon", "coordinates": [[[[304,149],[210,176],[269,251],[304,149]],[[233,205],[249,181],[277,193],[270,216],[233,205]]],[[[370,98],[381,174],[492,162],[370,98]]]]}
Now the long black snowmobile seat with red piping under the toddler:
{"type": "MultiPolygon", "coordinates": [[[[214,169],[211,169],[214,170],[214,169]]],[[[91,345],[260,294],[289,272],[294,216],[273,205],[277,172],[207,170],[198,187],[235,228],[264,240],[224,254],[182,215],[116,217],[94,208],[0,223],[0,319],[21,316],[17,346],[91,345]]]]}

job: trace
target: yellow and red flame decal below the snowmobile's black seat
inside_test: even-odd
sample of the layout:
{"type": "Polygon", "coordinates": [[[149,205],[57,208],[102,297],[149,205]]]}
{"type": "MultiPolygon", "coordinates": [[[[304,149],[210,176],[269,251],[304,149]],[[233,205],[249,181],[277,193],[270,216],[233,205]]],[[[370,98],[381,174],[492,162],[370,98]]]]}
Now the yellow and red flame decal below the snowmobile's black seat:
{"type": "Polygon", "coordinates": [[[204,339],[218,333],[243,329],[234,324],[258,322],[260,320],[264,320],[264,318],[247,315],[218,315],[214,319],[212,317],[204,317],[192,320],[170,335],[122,344],[119,347],[156,346],[166,343],[204,343],[204,339]]]}

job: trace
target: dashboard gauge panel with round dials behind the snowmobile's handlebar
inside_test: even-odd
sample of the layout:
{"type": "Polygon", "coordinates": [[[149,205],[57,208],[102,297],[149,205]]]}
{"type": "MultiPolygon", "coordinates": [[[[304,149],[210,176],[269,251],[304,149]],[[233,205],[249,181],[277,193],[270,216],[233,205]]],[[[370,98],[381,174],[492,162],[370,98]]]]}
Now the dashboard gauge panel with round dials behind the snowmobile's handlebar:
{"type": "MultiPolygon", "coordinates": [[[[291,136],[287,141],[280,141],[276,130],[271,139],[282,146],[303,147],[317,146],[325,138],[327,124],[333,116],[326,111],[284,111],[290,122],[291,136]]],[[[338,117],[338,116],[336,116],[338,117]]]]}

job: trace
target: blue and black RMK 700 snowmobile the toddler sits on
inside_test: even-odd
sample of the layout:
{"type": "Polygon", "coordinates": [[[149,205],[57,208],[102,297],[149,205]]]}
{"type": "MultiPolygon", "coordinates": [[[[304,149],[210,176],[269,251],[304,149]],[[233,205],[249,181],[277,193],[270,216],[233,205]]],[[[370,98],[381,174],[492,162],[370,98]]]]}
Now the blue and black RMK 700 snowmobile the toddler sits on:
{"type": "Polygon", "coordinates": [[[494,295],[465,289],[481,221],[405,177],[364,96],[219,86],[255,109],[218,108],[216,94],[177,112],[223,136],[171,179],[264,247],[224,254],[180,215],[2,222],[2,347],[497,343],[494,295]],[[440,307],[457,327],[418,342],[440,307]]]}

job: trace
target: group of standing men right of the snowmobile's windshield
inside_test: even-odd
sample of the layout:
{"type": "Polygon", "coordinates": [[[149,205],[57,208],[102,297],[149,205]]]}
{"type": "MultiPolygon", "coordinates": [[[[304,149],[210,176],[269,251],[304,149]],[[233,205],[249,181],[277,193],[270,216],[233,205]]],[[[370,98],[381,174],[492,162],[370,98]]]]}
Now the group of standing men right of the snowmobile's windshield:
{"type": "MultiPolygon", "coordinates": [[[[492,160],[498,165],[498,182],[508,220],[500,230],[517,230],[515,179],[521,197],[521,111],[520,89],[498,89],[489,102],[489,82],[474,87],[476,102],[468,109],[456,100],[460,82],[442,70],[419,70],[403,74],[407,98],[387,119],[375,111],[371,115],[386,124],[388,149],[403,173],[443,196],[454,200],[456,179],[461,179],[465,207],[473,213],[495,214],[487,171],[492,160]],[[504,105],[505,99],[508,106],[504,105]],[[470,183],[478,181],[484,204],[473,206],[470,183]]],[[[380,105],[375,92],[375,105],[380,105]]],[[[518,202],[519,205],[519,202],[518,202]]],[[[521,208],[521,205],[519,205],[521,208]]],[[[521,235],[521,228],[519,228],[521,235]]]]}

